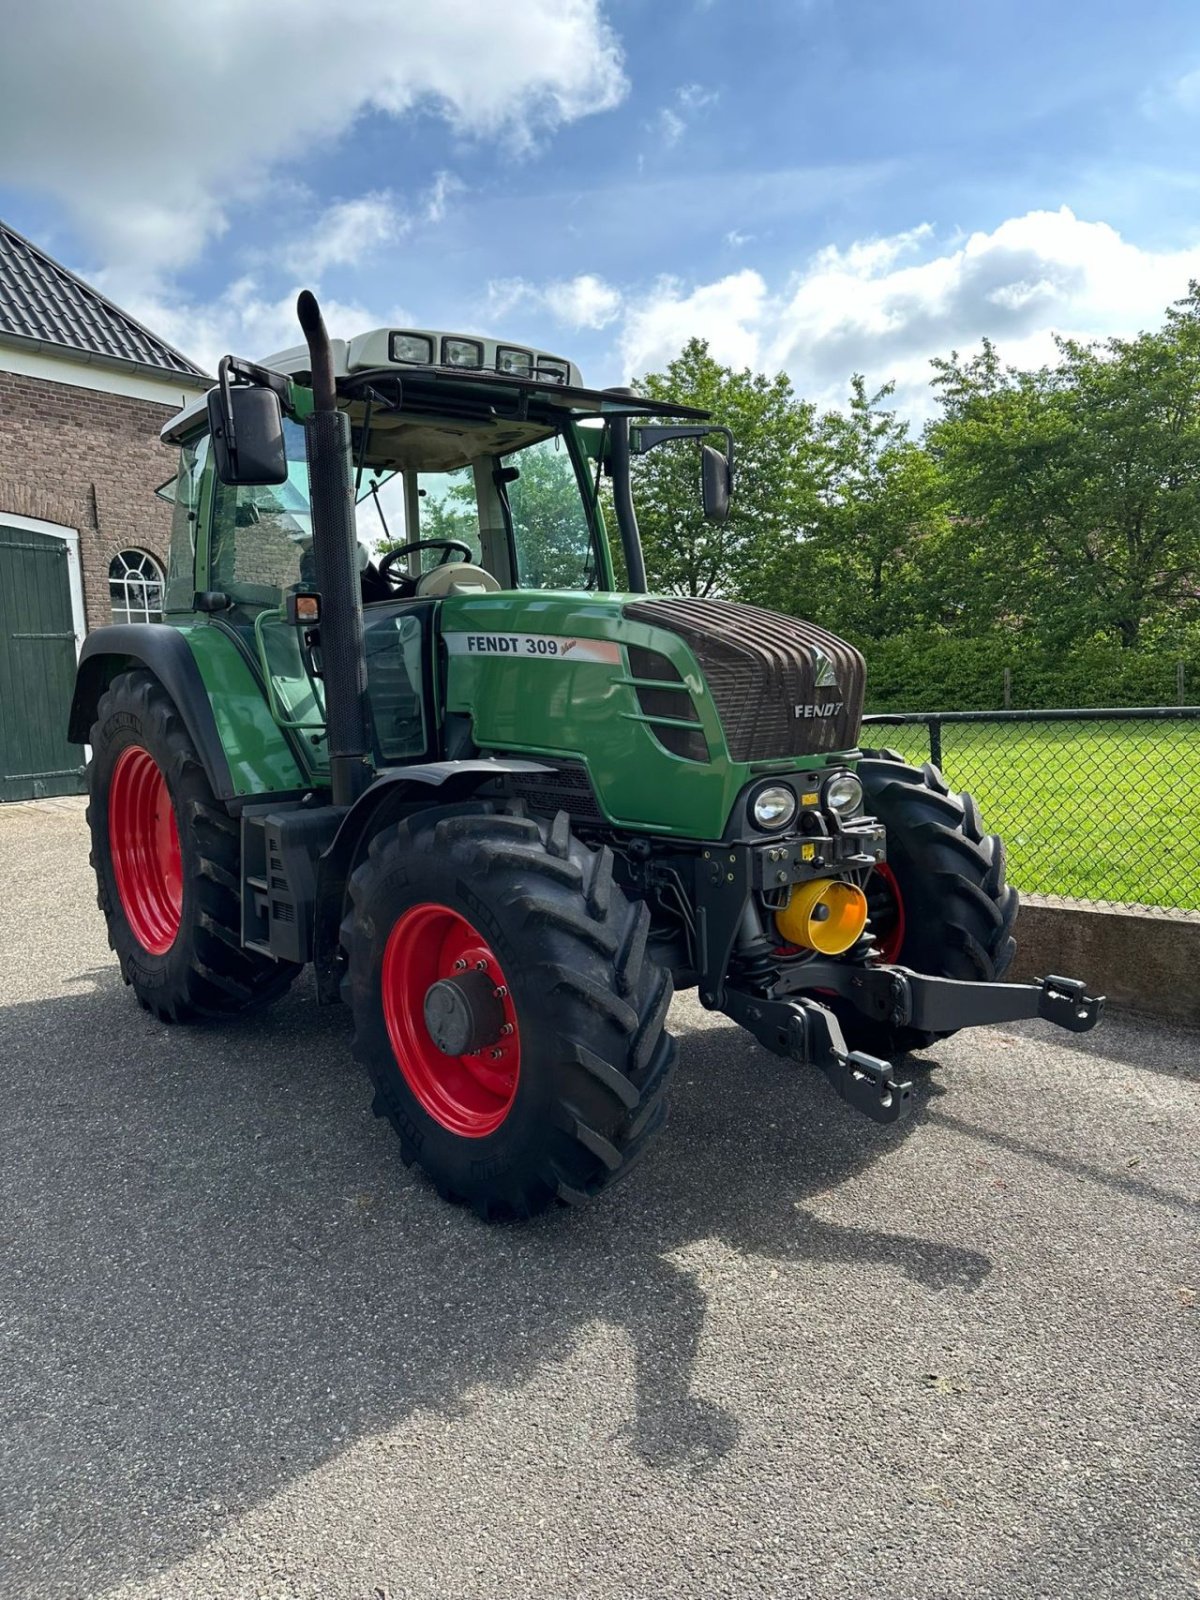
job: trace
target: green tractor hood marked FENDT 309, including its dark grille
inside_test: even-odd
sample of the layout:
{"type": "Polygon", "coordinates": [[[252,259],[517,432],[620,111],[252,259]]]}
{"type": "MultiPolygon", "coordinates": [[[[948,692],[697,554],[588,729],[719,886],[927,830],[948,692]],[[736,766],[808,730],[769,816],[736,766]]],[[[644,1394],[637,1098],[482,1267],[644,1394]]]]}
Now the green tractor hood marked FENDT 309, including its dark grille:
{"type": "Polygon", "coordinates": [[[440,606],[446,710],[480,749],[578,762],[616,826],[720,837],[763,771],[858,746],[859,653],[726,600],[502,592],[440,606]]]}

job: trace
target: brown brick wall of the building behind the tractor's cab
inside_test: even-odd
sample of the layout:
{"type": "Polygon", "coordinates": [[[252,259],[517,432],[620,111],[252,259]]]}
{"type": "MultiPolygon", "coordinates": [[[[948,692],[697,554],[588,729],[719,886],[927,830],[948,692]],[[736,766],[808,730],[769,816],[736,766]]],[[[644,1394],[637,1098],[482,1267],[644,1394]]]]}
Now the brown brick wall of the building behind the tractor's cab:
{"type": "Polygon", "coordinates": [[[166,566],[171,509],[154,491],[176,466],[158,442],[176,411],[0,371],[0,522],[14,512],[78,528],[90,629],[112,621],[117,550],[150,550],[166,566]]]}

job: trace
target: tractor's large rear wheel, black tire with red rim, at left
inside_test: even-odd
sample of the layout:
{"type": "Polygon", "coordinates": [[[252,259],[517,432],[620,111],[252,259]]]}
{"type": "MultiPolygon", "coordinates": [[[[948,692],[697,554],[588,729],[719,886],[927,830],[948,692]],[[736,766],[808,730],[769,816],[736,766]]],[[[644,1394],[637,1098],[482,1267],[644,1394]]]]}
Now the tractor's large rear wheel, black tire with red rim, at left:
{"type": "Polygon", "coordinates": [[[123,672],[91,728],[88,827],[122,978],[163,1022],[277,1000],[299,966],[242,947],[237,819],[158,680],[123,672]]]}

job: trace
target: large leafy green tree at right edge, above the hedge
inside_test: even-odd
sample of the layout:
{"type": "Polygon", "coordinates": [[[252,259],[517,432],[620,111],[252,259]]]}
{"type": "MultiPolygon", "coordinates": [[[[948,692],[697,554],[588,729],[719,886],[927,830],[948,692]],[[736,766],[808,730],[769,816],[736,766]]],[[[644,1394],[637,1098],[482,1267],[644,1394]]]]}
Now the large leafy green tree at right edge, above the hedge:
{"type": "Polygon", "coordinates": [[[1200,610],[1200,290],[1154,333],[1058,352],[1026,373],[990,347],[934,362],[952,560],[976,621],[1130,650],[1200,610]]]}

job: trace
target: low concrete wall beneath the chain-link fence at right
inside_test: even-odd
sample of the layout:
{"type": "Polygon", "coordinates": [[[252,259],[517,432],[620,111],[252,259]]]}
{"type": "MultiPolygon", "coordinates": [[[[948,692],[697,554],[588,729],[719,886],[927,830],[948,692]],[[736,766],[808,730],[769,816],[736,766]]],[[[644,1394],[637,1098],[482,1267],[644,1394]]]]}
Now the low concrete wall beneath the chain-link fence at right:
{"type": "Polygon", "coordinates": [[[1200,918],[1021,896],[1013,979],[1082,978],[1142,1016],[1200,1027],[1200,918]]]}

